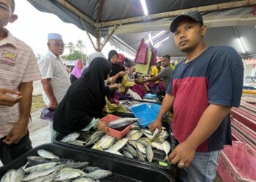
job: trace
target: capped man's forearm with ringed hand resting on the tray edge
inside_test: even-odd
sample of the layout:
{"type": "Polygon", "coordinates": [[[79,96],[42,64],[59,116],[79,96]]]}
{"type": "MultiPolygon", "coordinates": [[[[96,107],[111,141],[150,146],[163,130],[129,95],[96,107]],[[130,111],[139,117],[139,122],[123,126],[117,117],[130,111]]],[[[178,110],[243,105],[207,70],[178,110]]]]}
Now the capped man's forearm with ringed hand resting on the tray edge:
{"type": "Polygon", "coordinates": [[[173,164],[179,163],[180,167],[188,167],[197,147],[217,130],[230,109],[229,106],[209,105],[187,140],[176,146],[176,149],[169,155],[169,161],[173,164]]]}

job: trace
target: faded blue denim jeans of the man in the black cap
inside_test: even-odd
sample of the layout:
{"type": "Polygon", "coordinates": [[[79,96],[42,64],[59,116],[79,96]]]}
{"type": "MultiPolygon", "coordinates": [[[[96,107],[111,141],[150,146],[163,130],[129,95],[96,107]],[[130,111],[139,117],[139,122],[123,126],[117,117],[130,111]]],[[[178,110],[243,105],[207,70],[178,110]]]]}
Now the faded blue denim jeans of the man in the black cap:
{"type": "Polygon", "coordinates": [[[180,171],[179,178],[181,181],[193,182],[210,182],[214,181],[217,172],[217,161],[219,151],[195,152],[195,157],[187,168],[180,171]]]}

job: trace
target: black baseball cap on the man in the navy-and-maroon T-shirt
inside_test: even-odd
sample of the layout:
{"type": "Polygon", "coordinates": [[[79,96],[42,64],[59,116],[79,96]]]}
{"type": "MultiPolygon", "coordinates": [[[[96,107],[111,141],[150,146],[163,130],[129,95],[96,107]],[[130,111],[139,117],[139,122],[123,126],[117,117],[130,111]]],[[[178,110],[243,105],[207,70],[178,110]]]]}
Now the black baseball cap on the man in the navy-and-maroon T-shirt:
{"type": "Polygon", "coordinates": [[[173,22],[170,23],[170,31],[174,33],[176,31],[178,23],[180,23],[181,20],[187,18],[195,20],[196,22],[201,23],[203,25],[203,17],[200,15],[200,12],[181,12],[181,15],[176,16],[173,19],[173,22]]]}

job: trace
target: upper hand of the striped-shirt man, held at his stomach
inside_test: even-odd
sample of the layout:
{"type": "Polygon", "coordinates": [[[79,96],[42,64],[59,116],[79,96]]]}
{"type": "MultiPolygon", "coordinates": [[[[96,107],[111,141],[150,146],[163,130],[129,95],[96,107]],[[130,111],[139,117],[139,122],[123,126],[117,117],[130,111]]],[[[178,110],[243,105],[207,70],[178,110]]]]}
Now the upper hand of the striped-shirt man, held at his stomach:
{"type": "Polygon", "coordinates": [[[22,96],[20,92],[10,89],[0,88],[0,105],[12,107],[15,103],[18,103],[22,96]],[[14,94],[14,96],[8,95],[14,94]]]}

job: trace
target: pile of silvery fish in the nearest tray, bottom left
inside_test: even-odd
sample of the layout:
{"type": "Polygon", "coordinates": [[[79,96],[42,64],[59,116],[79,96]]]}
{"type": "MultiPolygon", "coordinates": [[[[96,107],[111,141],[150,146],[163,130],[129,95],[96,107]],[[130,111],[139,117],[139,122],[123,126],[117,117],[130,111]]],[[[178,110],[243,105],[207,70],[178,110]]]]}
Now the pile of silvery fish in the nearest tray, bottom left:
{"type": "Polygon", "coordinates": [[[89,166],[89,162],[61,159],[50,151],[40,149],[39,156],[27,157],[28,162],[18,170],[9,170],[1,182],[20,181],[99,181],[112,175],[110,170],[89,166]]]}

